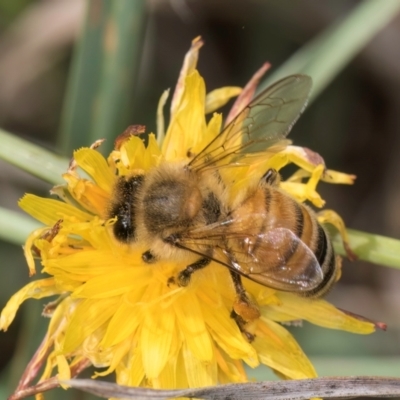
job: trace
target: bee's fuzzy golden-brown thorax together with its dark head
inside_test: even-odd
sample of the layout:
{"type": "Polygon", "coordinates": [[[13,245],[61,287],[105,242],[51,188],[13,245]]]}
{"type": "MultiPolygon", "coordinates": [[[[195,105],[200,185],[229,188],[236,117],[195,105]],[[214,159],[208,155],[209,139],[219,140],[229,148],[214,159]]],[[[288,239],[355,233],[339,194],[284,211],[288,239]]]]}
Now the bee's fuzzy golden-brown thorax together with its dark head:
{"type": "Polygon", "coordinates": [[[205,179],[199,179],[197,173],[187,169],[187,163],[165,163],[146,177],[118,178],[109,216],[118,218],[121,215],[123,223],[117,220],[113,225],[114,237],[118,240],[126,237],[126,240],[120,240],[125,243],[146,244],[154,259],[198,258],[171,245],[168,239],[216,223],[226,216],[224,187],[212,174],[206,175],[205,179]],[[139,181],[128,216],[125,199],[129,195],[124,192],[134,186],[131,182],[139,181]],[[125,232],[128,231],[134,234],[127,235],[125,232]]]}

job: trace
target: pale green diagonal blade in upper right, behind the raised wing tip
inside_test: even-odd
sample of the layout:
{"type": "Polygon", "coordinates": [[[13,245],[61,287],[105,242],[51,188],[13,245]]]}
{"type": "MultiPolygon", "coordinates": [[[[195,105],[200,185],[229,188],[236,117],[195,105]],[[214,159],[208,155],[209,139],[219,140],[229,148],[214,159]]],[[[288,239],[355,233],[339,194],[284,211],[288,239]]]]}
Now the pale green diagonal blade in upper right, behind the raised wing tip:
{"type": "Polygon", "coordinates": [[[399,11],[399,0],[364,0],[270,74],[259,90],[284,76],[304,73],[314,81],[312,101],[399,11]]]}

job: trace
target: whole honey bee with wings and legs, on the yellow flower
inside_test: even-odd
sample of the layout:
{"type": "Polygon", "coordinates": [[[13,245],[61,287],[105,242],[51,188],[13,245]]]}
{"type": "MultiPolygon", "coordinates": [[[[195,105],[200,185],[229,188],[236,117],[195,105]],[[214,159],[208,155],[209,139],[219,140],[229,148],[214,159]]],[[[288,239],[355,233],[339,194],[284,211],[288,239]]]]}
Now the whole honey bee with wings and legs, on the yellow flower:
{"type": "Polygon", "coordinates": [[[145,263],[179,261],[183,268],[168,284],[187,286],[211,261],[226,266],[237,293],[232,316],[242,331],[259,316],[242,276],[317,297],[338,273],[327,232],[308,206],[279,189],[276,170],[265,171],[233,200],[220,173],[284,140],[306,107],[311,86],[306,75],[274,83],[188,161],[119,177],[114,187],[108,215],[117,217],[114,237],[146,244],[145,263]]]}

